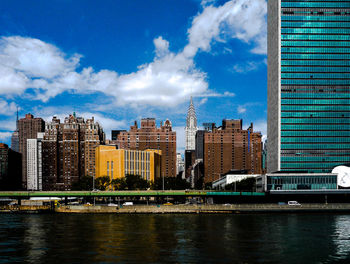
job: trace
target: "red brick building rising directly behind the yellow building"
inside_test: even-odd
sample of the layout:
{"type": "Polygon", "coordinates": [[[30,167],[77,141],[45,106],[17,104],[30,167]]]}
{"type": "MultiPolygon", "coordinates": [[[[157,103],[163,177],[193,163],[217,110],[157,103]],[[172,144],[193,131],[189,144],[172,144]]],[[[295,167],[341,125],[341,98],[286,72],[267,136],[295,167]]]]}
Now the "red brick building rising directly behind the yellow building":
{"type": "Polygon", "coordinates": [[[176,176],[176,132],[172,131],[169,120],[160,123],[157,128],[154,118],[141,119],[141,127],[137,122],[129,131],[121,131],[117,137],[121,149],[146,150],[159,149],[162,151],[161,175],[176,176]]]}

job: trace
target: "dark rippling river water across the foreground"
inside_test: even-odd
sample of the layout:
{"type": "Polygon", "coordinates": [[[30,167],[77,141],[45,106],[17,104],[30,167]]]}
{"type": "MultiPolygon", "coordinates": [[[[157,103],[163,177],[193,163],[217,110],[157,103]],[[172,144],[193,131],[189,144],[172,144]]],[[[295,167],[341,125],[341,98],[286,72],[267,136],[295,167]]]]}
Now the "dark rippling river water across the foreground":
{"type": "Polygon", "coordinates": [[[350,215],[0,214],[0,263],[350,263],[350,215]]]}

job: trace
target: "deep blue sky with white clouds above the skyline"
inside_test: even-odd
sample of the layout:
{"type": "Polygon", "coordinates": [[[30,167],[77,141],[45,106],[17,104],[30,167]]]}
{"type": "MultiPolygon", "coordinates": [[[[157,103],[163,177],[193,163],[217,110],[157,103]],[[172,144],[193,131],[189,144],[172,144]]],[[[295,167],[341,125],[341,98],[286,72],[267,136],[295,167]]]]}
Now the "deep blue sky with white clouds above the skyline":
{"type": "Polygon", "coordinates": [[[243,119],[266,137],[266,0],[2,0],[0,142],[26,113],[94,116],[110,138],[169,119],[243,119]]]}

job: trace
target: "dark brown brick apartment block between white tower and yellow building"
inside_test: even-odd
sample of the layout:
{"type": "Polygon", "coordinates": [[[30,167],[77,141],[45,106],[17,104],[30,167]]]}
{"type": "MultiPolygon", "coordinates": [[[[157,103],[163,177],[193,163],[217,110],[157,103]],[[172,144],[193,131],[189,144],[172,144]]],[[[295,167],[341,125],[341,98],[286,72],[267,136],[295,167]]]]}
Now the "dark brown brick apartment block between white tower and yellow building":
{"type": "Polygon", "coordinates": [[[70,190],[83,176],[95,176],[95,148],[104,143],[104,133],[94,118],[69,115],[53,117],[46,124],[43,148],[43,189],[70,190]]]}

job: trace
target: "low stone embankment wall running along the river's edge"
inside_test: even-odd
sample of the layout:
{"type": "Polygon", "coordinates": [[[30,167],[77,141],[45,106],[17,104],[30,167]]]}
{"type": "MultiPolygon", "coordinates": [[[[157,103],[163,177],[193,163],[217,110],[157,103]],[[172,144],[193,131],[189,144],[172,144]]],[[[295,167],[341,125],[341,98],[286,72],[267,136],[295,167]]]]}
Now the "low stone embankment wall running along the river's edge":
{"type": "Polygon", "coordinates": [[[216,204],[216,205],[60,205],[3,206],[0,213],[113,213],[113,214],[239,214],[239,213],[350,213],[350,204],[216,204]]]}

